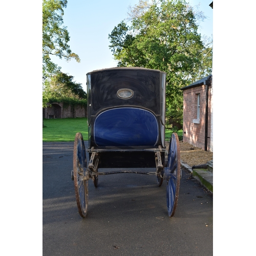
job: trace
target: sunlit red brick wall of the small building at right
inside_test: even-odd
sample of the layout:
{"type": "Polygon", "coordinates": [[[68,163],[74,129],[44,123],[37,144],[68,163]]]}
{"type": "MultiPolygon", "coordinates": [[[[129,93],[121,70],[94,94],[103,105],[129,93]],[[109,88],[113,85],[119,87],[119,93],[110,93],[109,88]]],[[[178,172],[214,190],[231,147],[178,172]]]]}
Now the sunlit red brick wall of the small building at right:
{"type": "MultiPolygon", "coordinates": [[[[204,150],[205,144],[205,99],[206,86],[197,86],[183,91],[183,140],[204,150]],[[200,94],[200,120],[197,119],[197,95],[200,94]],[[197,123],[198,122],[198,123],[197,123]]],[[[208,101],[208,136],[211,135],[211,86],[208,101]]],[[[210,150],[210,138],[207,139],[210,150]]]]}

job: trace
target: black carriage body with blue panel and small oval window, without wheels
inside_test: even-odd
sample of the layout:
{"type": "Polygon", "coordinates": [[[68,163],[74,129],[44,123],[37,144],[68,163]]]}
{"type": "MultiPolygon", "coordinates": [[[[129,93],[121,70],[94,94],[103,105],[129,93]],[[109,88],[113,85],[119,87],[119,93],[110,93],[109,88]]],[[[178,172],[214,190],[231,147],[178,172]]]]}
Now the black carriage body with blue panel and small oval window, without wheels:
{"type": "Polygon", "coordinates": [[[90,158],[98,167],[154,167],[164,160],[165,78],[159,70],[112,68],[87,74],[90,158]]]}

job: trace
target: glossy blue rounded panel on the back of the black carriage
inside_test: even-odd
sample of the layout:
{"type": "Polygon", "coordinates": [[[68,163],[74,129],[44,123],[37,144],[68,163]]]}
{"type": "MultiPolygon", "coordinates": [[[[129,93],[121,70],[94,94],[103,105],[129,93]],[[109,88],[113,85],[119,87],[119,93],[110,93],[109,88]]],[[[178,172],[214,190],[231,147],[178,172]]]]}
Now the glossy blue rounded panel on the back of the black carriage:
{"type": "Polygon", "coordinates": [[[98,146],[155,146],[158,122],[149,111],[117,108],[102,112],[94,124],[94,140],[98,146]]]}

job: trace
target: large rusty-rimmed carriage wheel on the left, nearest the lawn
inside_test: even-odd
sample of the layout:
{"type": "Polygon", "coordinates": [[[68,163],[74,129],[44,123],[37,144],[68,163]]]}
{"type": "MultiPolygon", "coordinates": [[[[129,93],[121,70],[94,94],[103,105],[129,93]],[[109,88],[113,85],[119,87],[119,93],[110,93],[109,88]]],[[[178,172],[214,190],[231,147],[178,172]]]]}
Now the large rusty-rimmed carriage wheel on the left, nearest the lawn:
{"type": "Polygon", "coordinates": [[[88,207],[88,179],[86,148],[81,133],[77,133],[74,142],[73,173],[76,203],[81,217],[86,217],[88,207]]]}

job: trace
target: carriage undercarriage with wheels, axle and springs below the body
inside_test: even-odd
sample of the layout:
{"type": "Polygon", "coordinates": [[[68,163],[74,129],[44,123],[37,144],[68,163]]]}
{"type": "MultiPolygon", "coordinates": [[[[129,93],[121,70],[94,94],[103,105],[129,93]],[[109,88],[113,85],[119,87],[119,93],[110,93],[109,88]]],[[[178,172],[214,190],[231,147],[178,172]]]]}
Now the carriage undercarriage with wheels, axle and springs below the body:
{"type": "MultiPolygon", "coordinates": [[[[180,169],[180,148],[178,135],[174,133],[170,139],[168,155],[166,157],[166,150],[159,146],[159,148],[148,148],[147,150],[106,150],[106,149],[91,149],[86,151],[84,141],[81,133],[77,133],[74,143],[74,155],[73,155],[73,170],[71,173],[72,180],[75,184],[75,194],[78,211],[81,217],[86,217],[88,211],[88,181],[93,180],[94,186],[98,186],[98,177],[102,175],[110,174],[143,174],[143,175],[155,175],[157,177],[157,185],[161,186],[163,180],[167,181],[166,184],[166,203],[168,216],[172,217],[175,214],[181,169],[180,169]],[[87,161],[86,152],[91,156],[90,160],[87,161]],[[151,153],[155,155],[155,167],[156,172],[140,172],[137,170],[117,170],[112,172],[98,172],[100,163],[100,156],[102,154],[125,154],[125,153],[151,153]]],[[[112,159],[113,160],[113,159],[112,159]]],[[[131,163],[134,163],[132,161],[131,163]]],[[[143,164],[143,163],[142,163],[143,164]]],[[[116,165],[114,165],[116,167],[116,165]]],[[[144,164],[145,166],[145,164],[144,164]]],[[[132,166],[134,167],[134,166],[132,166]]],[[[152,167],[152,166],[146,166],[152,167]]]]}

